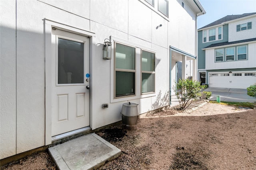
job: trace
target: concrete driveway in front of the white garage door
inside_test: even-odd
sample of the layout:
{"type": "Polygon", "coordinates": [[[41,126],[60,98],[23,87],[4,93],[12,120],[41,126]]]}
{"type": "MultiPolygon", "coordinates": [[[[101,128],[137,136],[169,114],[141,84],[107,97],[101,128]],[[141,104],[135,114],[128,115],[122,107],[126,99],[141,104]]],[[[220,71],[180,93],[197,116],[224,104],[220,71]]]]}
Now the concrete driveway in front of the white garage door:
{"type": "Polygon", "coordinates": [[[212,92],[210,100],[216,100],[216,96],[220,96],[220,102],[256,102],[256,98],[247,95],[246,89],[208,87],[204,91],[212,92]]]}

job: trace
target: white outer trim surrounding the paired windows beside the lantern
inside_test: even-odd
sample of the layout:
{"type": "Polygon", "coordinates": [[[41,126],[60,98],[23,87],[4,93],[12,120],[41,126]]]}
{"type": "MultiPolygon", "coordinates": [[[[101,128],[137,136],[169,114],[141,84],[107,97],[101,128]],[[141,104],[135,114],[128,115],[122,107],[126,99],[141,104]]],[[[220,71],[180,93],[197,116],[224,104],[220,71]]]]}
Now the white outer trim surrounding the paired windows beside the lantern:
{"type": "MultiPolygon", "coordinates": [[[[110,37],[110,40],[112,42],[112,44],[114,44],[114,42],[117,42],[117,43],[121,43],[121,44],[124,44],[124,45],[128,45],[128,46],[133,46],[133,47],[136,47],[136,55],[135,55],[135,70],[136,70],[136,75],[135,75],[135,95],[133,96],[122,96],[122,97],[118,97],[118,98],[115,98],[115,60],[114,60],[114,57],[115,57],[115,49],[114,49],[114,45],[111,46],[112,48],[112,53],[111,53],[111,60],[110,60],[110,67],[111,67],[111,70],[110,70],[110,103],[116,103],[116,102],[124,102],[124,101],[128,101],[128,100],[135,100],[135,99],[141,99],[141,98],[148,98],[148,97],[152,97],[152,96],[156,96],[156,92],[154,93],[150,93],[150,94],[141,94],[141,79],[142,79],[142,76],[141,76],[141,54],[140,54],[140,51],[141,49],[143,50],[146,50],[146,51],[150,51],[152,53],[155,53],[156,54],[156,50],[154,49],[151,49],[149,47],[144,47],[142,45],[138,45],[138,44],[135,44],[135,43],[132,43],[132,42],[129,42],[129,41],[126,41],[126,40],[123,40],[123,39],[119,39],[119,38],[116,38],[116,37],[113,37],[111,36],[110,37]]],[[[155,56],[155,59],[156,59],[156,56],[155,56]]],[[[156,87],[155,87],[156,89],[156,87]]]]}

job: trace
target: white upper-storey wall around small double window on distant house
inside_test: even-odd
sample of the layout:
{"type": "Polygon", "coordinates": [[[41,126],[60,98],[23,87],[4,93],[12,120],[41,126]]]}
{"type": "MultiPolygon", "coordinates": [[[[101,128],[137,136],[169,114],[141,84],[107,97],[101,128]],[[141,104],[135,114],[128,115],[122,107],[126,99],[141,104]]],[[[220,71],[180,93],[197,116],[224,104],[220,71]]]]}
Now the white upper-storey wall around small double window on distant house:
{"type": "Polygon", "coordinates": [[[228,42],[256,38],[256,16],[228,23],[228,42]],[[236,32],[236,25],[252,22],[252,29],[236,32]]]}

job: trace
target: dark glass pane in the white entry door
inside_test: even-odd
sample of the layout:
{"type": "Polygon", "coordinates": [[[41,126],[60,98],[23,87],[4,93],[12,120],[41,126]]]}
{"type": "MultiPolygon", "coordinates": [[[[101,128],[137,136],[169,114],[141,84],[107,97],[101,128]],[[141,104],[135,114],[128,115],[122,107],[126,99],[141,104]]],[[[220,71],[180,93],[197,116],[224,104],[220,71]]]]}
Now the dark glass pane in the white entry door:
{"type": "Polygon", "coordinates": [[[58,84],[84,83],[84,43],[58,38],[58,84]]]}

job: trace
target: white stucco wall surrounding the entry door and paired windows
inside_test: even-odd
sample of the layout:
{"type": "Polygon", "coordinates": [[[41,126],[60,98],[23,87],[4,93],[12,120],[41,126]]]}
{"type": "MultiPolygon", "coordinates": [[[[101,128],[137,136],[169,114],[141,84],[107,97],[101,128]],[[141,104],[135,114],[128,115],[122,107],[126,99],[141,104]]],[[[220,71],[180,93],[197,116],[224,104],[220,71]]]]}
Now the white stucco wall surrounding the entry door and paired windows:
{"type": "MultiPolygon", "coordinates": [[[[2,1],[0,7],[1,159],[44,146],[49,138],[45,137],[45,18],[95,33],[90,66],[92,129],[120,121],[122,103],[128,100],[139,104],[139,113],[167,106],[169,46],[195,53],[195,14],[176,0],[169,1],[169,18],[139,0],[18,0],[17,8],[15,5],[15,1],[2,1]],[[154,95],[119,101],[111,98],[113,60],[102,59],[102,43],[110,36],[156,53],[154,95]],[[104,103],[109,107],[102,109],[104,103]]],[[[171,67],[173,79],[175,62],[171,67]]],[[[140,80],[137,83],[140,86],[140,80]]]]}

